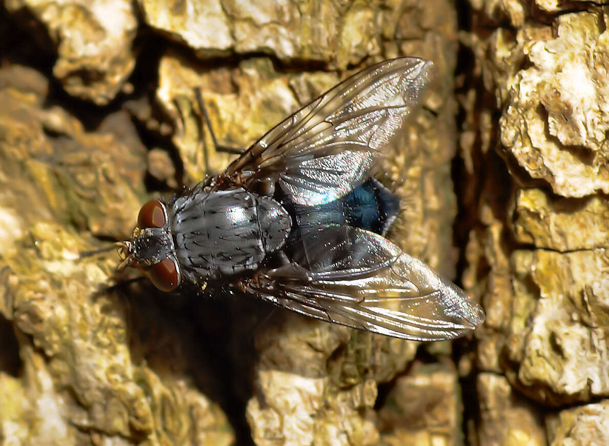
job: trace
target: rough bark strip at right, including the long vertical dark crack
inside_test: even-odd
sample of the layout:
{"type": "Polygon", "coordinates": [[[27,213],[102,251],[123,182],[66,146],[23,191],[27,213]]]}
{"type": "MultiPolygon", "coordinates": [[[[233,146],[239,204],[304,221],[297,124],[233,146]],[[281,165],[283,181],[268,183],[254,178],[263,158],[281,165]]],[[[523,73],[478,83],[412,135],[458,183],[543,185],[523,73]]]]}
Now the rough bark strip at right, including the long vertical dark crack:
{"type": "Polygon", "coordinates": [[[487,323],[470,439],[607,444],[608,10],[471,7],[461,196],[477,223],[464,281],[487,323]]]}

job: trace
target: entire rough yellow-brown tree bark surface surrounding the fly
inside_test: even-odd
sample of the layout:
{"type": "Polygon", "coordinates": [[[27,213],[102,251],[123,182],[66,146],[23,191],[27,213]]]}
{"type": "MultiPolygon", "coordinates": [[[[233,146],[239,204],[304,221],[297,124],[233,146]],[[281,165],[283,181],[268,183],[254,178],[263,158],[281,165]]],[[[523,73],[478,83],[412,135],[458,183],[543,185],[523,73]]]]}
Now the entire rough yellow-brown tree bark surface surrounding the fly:
{"type": "Polygon", "coordinates": [[[458,9],[461,30],[445,0],[7,0],[0,442],[607,444],[607,10],[458,9]],[[200,132],[195,87],[220,144],[245,148],[401,55],[437,83],[387,147],[389,237],[462,273],[487,311],[475,342],[170,296],[121,281],[113,251],[79,257],[234,157],[200,132]]]}

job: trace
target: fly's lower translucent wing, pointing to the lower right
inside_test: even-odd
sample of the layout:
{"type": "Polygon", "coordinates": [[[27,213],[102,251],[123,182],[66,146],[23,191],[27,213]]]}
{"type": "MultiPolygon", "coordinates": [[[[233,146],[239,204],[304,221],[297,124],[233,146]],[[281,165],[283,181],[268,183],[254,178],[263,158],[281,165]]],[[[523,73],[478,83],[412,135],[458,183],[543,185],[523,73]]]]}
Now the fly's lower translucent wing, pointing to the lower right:
{"type": "Polygon", "coordinates": [[[330,225],[300,242],[294,263],[245,290],[306,316],[417,341],[457,338],[484,322],[462,289],[375,233],[330,225]]]}

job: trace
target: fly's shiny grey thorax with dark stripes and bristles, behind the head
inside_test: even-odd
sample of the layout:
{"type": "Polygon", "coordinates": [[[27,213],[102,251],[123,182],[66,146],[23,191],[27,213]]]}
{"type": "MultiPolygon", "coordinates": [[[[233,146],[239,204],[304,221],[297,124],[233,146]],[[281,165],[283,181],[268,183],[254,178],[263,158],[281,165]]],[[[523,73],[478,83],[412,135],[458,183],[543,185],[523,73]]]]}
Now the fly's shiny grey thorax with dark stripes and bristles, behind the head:
{"type": "Polygon", "coordinates": [[[192,281],[253,271],[283,247],[292,227],[287,211],[272,197],[243,188],[195,188],[171,210],[175,253],[192,281]]]}

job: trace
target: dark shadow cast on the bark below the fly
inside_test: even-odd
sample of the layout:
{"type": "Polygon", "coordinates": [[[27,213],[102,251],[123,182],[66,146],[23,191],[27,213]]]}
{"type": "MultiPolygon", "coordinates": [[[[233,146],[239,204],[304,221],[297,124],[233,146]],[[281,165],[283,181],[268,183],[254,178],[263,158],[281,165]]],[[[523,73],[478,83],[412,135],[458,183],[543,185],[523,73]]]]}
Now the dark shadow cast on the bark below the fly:
{"type": "Polygon", "coordinates": [[[143,275],[128,272],[116,272],[114,283],[100,286],[91,298],[108,299],[123,315],[133,364],[145,365],[161,380],[192,380],[227,415],[236,444],[253,445],[245,407],[252,397],[264,405],[256,338],[268,338],[266,331],[276,330],[282,312],[219,288],[201,291],[185,284],[161,292],[143,275]]]}

